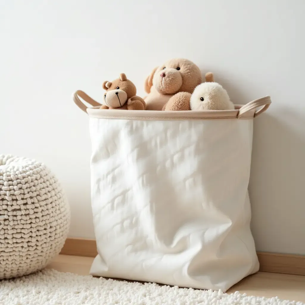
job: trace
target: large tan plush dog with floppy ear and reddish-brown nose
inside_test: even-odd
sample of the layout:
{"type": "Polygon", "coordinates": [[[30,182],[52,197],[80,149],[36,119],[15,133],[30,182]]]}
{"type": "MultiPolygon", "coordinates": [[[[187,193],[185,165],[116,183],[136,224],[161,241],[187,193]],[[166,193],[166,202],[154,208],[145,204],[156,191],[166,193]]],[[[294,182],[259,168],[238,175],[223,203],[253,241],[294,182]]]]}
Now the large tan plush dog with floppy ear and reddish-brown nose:
{"type": "MultiPolygon", "coordinates": [[[[206,75],[206,80],[210,81],[211,74],[206,75]]],[[[145,91],[149,93],[144,98],[146,110],[162,110],[174,94],[181,91],[193,93],[201,82],[201,72],[193,62],[182,58],[170,59],[152,70],[146,78],[145,91]]]]}

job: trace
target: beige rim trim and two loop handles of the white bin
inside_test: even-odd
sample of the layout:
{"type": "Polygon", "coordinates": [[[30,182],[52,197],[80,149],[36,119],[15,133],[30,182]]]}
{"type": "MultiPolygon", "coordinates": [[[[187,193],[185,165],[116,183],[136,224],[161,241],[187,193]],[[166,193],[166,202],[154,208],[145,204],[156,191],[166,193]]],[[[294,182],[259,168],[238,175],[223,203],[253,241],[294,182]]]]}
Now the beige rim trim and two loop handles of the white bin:
{"type": "Polygon", "coordinates": [[[75,104],[89,117],[127,120],[210,120],[210,119],[253,119],[265,112],[271,104],[270,96],[249,102],[246,105],[235,105],[235,110],[200,110],[200,111],[149,111],[99,109],[101,104],[91,99],[86,93],[77,90],[73,94],[75,104]],[[81,99],[93,107],[87,107],[81,99]],[[261,107],[256,111],[257,108],[261,107]]]}

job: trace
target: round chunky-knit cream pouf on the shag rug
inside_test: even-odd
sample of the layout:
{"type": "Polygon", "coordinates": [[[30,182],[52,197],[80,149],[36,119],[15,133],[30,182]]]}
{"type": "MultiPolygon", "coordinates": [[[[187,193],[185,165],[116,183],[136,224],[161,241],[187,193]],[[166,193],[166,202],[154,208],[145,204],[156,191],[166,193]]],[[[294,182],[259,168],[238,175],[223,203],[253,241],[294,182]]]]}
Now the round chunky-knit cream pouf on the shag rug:
{"type": "Polygon", "coordinates": [[[43,163],[0,155],[0,279],[44,268],[62,249],[70,208],[43,163]]]}

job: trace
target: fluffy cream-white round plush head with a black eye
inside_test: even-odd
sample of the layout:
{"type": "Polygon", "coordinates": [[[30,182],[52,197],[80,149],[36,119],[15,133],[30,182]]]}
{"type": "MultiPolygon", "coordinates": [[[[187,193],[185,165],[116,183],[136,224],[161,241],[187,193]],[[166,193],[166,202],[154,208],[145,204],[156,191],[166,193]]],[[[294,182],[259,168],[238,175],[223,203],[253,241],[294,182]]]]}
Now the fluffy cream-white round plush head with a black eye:
{"type": "Polygon", "coordinates": [[[198,85],[191,98],[191,110],[233,110],[227,91],[218,83],[203,83],[198,85]]]}

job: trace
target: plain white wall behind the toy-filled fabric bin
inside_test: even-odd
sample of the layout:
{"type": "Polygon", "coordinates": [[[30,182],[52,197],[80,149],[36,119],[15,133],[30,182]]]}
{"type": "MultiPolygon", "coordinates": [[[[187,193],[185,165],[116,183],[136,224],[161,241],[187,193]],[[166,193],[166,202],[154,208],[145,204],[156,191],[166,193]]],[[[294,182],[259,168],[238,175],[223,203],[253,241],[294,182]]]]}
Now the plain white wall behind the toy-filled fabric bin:
{"type": "Polygon", "coordinates": [[[235,103],[271,95],[255,120],[250,197],[257,249],[305,254],[303,0],[0,0],[0,153],[44,161],[72,207],[70,236],[93,238],[88,117],[124,72],[143,82],[172,57],[212,71],[235,103]]]}

